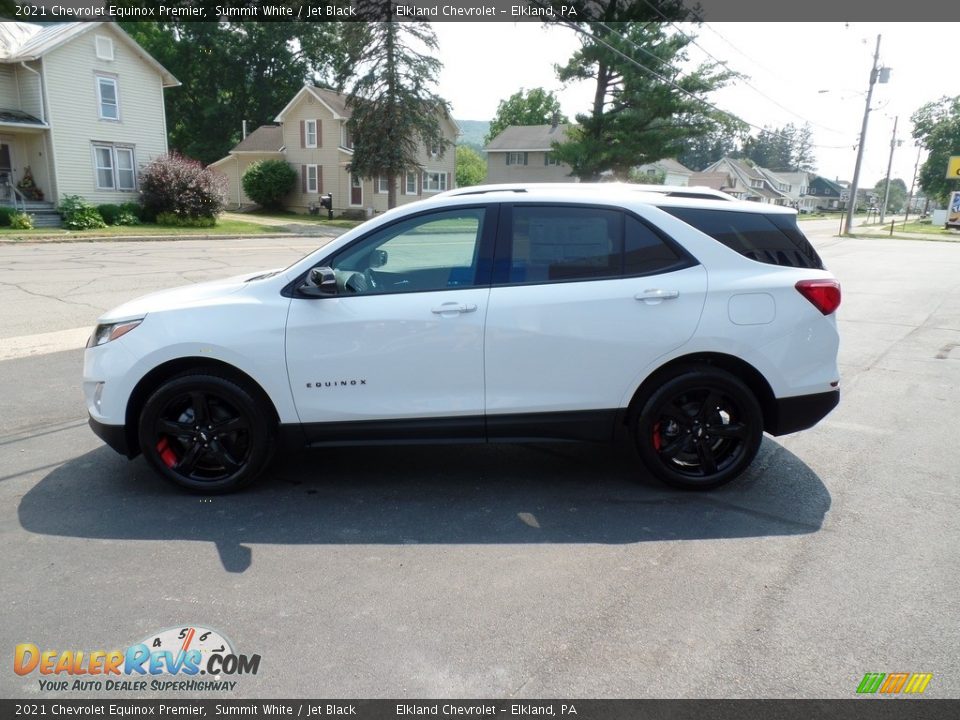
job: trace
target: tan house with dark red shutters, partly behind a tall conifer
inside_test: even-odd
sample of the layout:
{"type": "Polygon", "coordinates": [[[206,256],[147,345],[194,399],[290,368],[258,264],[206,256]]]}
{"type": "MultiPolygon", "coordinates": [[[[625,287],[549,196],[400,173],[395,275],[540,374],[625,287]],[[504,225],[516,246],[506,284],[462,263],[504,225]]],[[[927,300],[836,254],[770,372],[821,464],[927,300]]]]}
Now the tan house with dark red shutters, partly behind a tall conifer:
{"type": "MultiPolygon", "coordinates": [[[[258,160],[280,159],[292,165],[300,178],[287,199],[289,209],[306,212],[319,203],[321,195],[331,193],[337,214],[345,210],[383,212],[387,209],[387,179],[359,178],[347,170],[353,156],[346,126],[349,119],[345,95],[305,85],[277,115],[276,124],[260,126],[210,167],[227,176],[229,204],[234,207],[253,204],[243,192],[246,169],[258,160]]],[[[446,115],[440,125],[448,143],[445,151],[420,148],[420,167],[397,179],[398,205],[453,188],[453,148],[460,128],[446,115]]]]}

